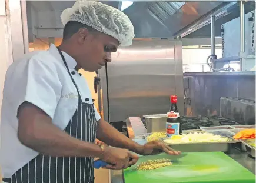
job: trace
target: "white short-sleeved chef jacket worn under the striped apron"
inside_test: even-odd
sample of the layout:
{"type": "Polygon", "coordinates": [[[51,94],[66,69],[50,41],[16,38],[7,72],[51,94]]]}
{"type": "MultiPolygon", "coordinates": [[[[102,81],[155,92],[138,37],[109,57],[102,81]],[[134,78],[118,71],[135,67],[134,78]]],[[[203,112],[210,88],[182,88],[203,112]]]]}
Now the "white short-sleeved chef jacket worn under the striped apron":
{"type": "MultiPolygon", "coordinates": [[[[77,62],[67,53],[62,52],[69,72],[76,82],[82,100],[92,95],[87,82],[75,71],[77,62]]],[[[78,106],[78,94],[65,68],[61,55],[54,44],[48,51],[35,51],[24,55],[12,63],[7,72],[4,84],[4,95],[1,114],[1,148],[0,165],[4,178],[10,178],[38,152],[25,147],[17,137],[19,105],[28,101],[41,108],[52,123],[60,129],[68,125],[78,106]]],[[[97,121],[101,118],[95,109],[97,121]]]]}

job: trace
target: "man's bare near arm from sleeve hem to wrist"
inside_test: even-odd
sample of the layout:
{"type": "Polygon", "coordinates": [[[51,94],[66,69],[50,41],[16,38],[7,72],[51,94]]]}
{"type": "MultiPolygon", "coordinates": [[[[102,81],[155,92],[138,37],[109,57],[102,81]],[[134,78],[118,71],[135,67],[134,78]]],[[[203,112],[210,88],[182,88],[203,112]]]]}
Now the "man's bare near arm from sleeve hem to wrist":
{"type": "Polygon", "coordinates": [[[54,157],[101,156],[98,145],[80,141],[61,131],[34,105],[24,102],[19,111],[18,138],[27,147],[54,157]]]}

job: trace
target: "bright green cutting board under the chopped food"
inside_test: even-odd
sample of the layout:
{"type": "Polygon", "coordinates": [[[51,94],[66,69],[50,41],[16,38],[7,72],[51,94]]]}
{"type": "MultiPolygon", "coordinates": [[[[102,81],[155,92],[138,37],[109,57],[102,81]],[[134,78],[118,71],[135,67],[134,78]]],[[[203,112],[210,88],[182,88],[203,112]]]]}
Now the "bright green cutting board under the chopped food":
{"type": "MultiPolygon", "coordinates": [[[[168,167],[137,171],[124,170],[125,183],[255,183],[255,175],[223,152],[188,152],[168,167]]],[[[149,159],[175,158],[160,154],[140,157],[137,164],[149,159]]],[[[136,166],[134,165],[134,166],[136,166]]]]}

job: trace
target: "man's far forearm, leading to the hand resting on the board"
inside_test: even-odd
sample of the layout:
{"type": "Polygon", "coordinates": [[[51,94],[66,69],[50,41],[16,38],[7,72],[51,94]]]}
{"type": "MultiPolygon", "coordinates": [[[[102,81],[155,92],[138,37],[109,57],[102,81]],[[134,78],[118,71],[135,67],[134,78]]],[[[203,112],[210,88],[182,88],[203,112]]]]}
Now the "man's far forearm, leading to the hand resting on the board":
{"type": "Polygon", "coordinates": [[[142,145],[132,141],[103,119],[98,121],[97,139],[113,147],[129,149],[138,154],[142,150],[142,145]]]}

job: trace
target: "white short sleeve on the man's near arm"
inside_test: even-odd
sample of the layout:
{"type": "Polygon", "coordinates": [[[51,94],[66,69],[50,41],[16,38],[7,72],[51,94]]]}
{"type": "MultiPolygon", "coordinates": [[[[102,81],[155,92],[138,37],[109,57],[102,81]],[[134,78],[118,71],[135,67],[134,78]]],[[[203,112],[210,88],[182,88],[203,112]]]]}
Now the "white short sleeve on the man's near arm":
{"type": "Polygon", "coordinates": [[[17,107],[28,101],[54,118],[61,97],[61,82],[56,66],[51,61],[32,58],[22,70],[23,75],[18,74],[12,79],[15,85],[19,86],[18,95],[15,97],[19,102],[17,107]]]}

